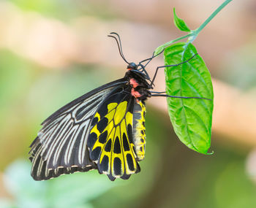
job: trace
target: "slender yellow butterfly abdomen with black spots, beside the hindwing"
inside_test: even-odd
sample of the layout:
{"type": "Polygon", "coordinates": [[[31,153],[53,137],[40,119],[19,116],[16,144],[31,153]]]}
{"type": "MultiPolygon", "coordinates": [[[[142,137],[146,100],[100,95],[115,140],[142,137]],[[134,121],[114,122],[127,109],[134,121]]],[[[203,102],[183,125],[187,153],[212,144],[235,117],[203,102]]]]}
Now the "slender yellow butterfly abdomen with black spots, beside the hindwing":
{"type": "Polygon", "coordinates": [[[145,134],[145,114],[146,107],[140,102],[135,102],[133,114],[133,139],[135,144],[135,152],[138,161],[142,161],[145,156],[146,134],[145,134]]]}

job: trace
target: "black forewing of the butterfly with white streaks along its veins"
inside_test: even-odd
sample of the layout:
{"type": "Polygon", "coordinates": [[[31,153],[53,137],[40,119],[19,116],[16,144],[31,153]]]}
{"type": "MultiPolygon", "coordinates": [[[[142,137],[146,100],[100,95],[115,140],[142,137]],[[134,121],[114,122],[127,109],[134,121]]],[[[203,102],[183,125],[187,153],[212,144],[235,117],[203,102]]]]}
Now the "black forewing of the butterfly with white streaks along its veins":
{"type": "Polygon", "coordinates": [[[102,85],[61,107],[42,123],[42,129],[30,146],[34,180],[98,169],[90,160],[87,147],[91,121],[111,92],[126,82],[121,79],[102,85]]]}

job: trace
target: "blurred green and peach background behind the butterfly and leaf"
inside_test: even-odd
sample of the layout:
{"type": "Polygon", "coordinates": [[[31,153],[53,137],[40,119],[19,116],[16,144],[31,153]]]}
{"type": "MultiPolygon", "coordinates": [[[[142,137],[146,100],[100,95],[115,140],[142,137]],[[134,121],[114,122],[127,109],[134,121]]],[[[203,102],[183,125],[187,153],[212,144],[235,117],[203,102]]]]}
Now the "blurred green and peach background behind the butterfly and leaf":
{"type": "MultiPolygon", "coordinates": [[[[165,99],[147,102],[140,174],[110,182],[97,171],[34,182],[29,145],[59,107],[124,76],[111,31],[135,63],[195,29],[223,1],[0,1],[0,207],[256,207],[256,2],[232,1],[194,44],[213,77],[214,155],[173,132],[165,99]]],[[[148,66],[154,73],[162,57],[148,66]]],[[[156,90],[165,89],[164,73],[156,90]]]]}

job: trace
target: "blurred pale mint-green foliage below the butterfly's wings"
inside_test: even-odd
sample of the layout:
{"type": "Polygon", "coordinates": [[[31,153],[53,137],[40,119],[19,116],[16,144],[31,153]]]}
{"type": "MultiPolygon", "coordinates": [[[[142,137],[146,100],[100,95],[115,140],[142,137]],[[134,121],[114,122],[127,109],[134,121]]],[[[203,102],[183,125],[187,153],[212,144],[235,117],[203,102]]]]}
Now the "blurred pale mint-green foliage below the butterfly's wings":
{"type": "Polygon", "coordinates": [[[78,173],[36,182],[30,177],[30,169],[28,161],[15,161],[7,168],[4,183],[15,199],[10,207],[92,207],[89,201],[118,185],[95,172],[86,177],[78,173]]]}

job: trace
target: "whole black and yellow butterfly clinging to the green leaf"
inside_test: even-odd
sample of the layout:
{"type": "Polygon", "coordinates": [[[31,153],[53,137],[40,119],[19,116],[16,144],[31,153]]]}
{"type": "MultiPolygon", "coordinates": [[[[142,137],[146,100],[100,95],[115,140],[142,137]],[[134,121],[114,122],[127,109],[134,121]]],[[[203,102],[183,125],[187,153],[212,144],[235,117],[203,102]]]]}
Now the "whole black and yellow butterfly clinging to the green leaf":
{"type": "Polygon", "coordinates": [[[129,179],[131,174],[140,172],[139,162],[145,157],[146,99],[197,98],[151,91],[158,69],[167,66],[157,67],[152,80],[145,67],[159,54],[138,64],[128,62],[118,34],[109,36],[116,39],[121,58],[128,63],[126,74],[71,101],[42,122],[29,152],[34,180],[92,169],[106,174],[111,181],[129,179]]]}

